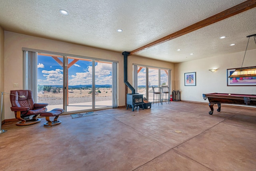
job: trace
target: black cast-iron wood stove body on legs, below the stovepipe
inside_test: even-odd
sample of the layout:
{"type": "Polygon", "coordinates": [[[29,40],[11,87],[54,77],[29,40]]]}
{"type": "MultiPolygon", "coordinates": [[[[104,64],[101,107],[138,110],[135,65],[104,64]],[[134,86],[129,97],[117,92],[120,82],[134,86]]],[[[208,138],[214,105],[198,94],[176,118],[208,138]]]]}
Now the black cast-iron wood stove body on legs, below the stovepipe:
{"type": "Polygon", "coordinates": [[[143,110],[144,110],[144,106],[143,106],[143,94],[139,94],[139,93],[135,93],[135,94],[127,94],[127,107],[126,109],[128,109],[128,107],[132,106],[132,111],[134,111],[134,107],[136,106],[142,106],[143,110]]]}

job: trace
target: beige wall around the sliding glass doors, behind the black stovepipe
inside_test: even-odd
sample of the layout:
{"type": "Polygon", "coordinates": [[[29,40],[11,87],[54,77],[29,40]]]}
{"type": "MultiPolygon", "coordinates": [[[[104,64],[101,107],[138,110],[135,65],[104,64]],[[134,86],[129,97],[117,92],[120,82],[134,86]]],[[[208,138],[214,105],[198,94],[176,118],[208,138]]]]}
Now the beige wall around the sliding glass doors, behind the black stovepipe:
{"type": "MultiPolygon", "coordinates": [[[[1,34],[0,34],[1,36],[1,34]]],[[[76,44],[70,44],[45,38],[38,38],[24,34],[4,31],[4,91],[22,89],[22,48],[32,48],[46,50],[50,52],[60,52],[65,54],[87,56],[92,58],[108,59],[118,61],[118,106],[125,105],[125,84],[124,84],[124,57],[122,53],[100,50],[76,44]],[[19,87],[13,87],[13,83],[18,83],[19,87]]],[[[1,58],[0,58],[1,59],[1,58]]],[[[1,60],[0,60],[1,61],[1,60]]],[[[138,56],[128,57],[128,81],[132,84],[132,64],[144,64],[149,66],[164,67],[174,69],[174,64],[161,62],[138,56]]],[[[174,77],[174,73],[172,73],[174,77]]],[[[129,92],[128,92],[129,93],[129,92]]],[[[15,118],[14,112],[10,110],[10,97],[4,96],[5,119],[15,118]]]]}

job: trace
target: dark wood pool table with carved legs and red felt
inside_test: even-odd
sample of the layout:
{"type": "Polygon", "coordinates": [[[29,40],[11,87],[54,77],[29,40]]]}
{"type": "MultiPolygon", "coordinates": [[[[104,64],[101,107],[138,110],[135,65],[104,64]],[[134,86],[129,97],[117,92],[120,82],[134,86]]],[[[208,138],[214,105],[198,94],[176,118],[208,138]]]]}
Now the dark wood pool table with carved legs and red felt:
{"type": "Polygon", "coordinates": [[[237,104],[237,105],[252,105],[256,106],[256,95],[248,95],[248,94],[227,94],[227,93],[209,93],[203,94],[204,100],[209,100],[209,107],[211,111],[209,114],[213,113],[213,105],[217,104],[217,111],[220,112],[220,104],[237,104]]]}

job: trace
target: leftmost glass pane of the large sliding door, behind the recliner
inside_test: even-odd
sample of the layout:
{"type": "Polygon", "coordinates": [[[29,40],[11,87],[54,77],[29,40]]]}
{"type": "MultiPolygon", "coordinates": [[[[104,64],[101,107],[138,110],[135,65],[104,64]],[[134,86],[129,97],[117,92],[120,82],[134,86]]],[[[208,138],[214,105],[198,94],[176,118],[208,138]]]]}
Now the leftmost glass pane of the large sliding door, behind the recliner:
{"type": "Polygon", "coordinates": [[[48,111],[63,109],[63,57],[37,56],[37,103],[48,103],[48,111]]]}

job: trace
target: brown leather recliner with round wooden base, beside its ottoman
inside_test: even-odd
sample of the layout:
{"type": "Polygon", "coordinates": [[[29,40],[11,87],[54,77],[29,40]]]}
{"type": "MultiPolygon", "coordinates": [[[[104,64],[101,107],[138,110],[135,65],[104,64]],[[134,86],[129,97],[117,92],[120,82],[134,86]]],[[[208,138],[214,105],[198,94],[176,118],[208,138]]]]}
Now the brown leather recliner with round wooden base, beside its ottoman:
{"type": "Polygon", "coordinates": [[[20,120],[16,125],[32,125],[41,121],[37,116],[47,111],[47,103],[34,103],[30,90],[11,90],[10,94],[11,110],[14,111],[15,117],[20,120]],[[31,115],[33,115],[32,119],[30,119],[31,115]]]}

